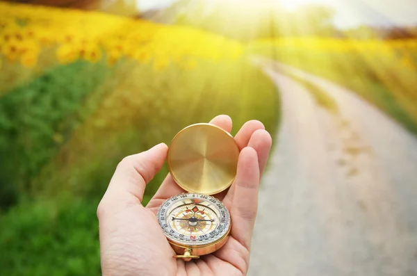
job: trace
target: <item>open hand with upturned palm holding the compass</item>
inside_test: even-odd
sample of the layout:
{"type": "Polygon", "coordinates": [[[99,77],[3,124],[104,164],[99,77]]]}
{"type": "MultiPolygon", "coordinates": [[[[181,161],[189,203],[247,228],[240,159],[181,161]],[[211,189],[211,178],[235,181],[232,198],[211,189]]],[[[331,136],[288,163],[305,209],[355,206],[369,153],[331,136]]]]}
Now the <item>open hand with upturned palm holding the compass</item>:
{"type": "MultiPolygon", "coordinates": [[[[231,131],[231,119],[220,115],[211,124],[231,131]]],[[[184,262],[174,259],[156,220],[156,211],[167,198],[186,193],[167,175],[146,207],[146,184],[161,170],[167,146],[124,158],[117,165],[97,209],[103,275],[246,275],[258,190],[272,139],[259,121],[246,122],[235,136],[240,148],[238,170],[229,190],[215,195],[231,213],[231,236],[218,251],[184,262]]]]}

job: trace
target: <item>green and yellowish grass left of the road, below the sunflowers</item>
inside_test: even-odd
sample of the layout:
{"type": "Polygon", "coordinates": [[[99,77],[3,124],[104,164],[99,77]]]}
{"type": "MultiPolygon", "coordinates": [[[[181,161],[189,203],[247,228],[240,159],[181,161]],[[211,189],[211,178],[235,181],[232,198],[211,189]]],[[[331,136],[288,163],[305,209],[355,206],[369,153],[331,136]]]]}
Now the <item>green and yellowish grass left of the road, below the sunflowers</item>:
{"type": "MultiPolygon", "coordinates": [[[[124,156],[222,113],[234,120],[233,133],[257,119],[274,134],[276,88],[244,60],[161,72],[131,60],[80,62],[6,91],[0,175],[10,190],[0,195],[18,202],[0,214],[1,274],[100,275],[95,213],[124,156]]],[[[144,203],[166,173],[165,166],[147,186],[144,203]]]]}

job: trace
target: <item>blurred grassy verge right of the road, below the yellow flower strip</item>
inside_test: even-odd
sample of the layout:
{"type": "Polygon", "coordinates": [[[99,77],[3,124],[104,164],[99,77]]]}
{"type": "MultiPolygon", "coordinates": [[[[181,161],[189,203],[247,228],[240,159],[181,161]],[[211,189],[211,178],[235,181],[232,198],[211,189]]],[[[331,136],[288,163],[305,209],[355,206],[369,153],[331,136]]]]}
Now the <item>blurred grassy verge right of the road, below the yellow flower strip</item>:
{"type": "MultiPolygon", "coordinates": [[[[417,133],[417,73],[404,67],[398,58],[376,52],[275,48],[272,44],[252,44],[250,51],[341,84],[417,133]]],[[[417,63],[417,51],[409,51],[407,54],[417,63]]]]}

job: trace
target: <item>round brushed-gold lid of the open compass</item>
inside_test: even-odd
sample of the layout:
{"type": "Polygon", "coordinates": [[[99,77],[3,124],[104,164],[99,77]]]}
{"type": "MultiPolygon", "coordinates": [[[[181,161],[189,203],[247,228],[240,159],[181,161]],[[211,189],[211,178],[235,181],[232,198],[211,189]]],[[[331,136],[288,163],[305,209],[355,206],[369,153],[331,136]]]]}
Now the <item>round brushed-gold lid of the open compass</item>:
{"type": "Polygon", "coordinates": [[[192,124],[172,139],[168,170],[190,193],[214,195],[236,177],[239,148],[233,136],[213,124],[192,124]]]}

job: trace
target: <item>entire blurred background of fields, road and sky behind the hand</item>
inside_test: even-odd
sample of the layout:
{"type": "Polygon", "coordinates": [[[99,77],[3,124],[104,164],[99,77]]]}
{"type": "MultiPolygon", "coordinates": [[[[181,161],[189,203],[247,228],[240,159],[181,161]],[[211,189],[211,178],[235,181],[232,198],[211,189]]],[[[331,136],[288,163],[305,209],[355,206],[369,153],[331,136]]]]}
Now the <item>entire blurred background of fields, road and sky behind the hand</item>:
{"type": "Polygon", "coordinates": [[[0,1],[0,275],[100,275],[117,163],[222,113],[274,140],[250,275],[417,275],[416,10],[0,1]]]}

